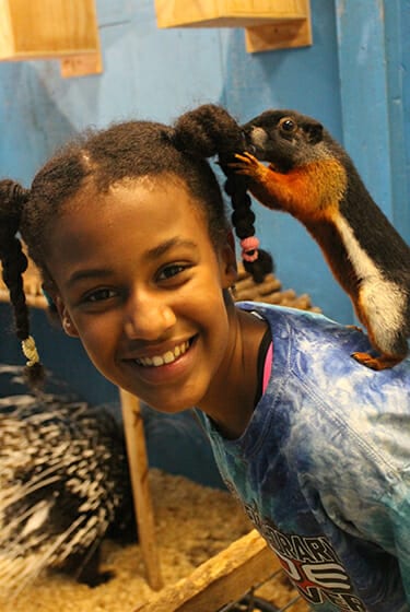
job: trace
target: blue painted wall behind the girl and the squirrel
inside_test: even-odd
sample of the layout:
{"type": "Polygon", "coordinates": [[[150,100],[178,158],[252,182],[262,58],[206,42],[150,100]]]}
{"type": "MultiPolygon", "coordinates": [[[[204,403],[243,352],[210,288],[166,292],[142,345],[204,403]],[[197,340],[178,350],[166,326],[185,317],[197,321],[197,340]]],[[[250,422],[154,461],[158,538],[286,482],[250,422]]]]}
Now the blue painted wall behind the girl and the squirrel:
{"type": "MultiPolygon", "coordinates": [[[[28,185],[52,151],[85,126],[150,118],[172,121],[199,104],[221,103],[241,121],[269,107],[320,119],[353,157],[380,208],[409,239],[410,3],[311,0],[314,45],[249,55],[241,30],[156,27],[153,0],[97,0],[104,73],[63,80],[58,61],[0,63],[0,173],[28,185]]],[[[284,287],[307,292],[342,322],[354,319],[305,229],[258,208],[258,232],[284,287]]],[[[10,327],[0,306],[0,329],[10,327]]],[[[33,315],[43,358],[93,402],[117,390],[75,340],[33,315]]],[[[1,332],[0,362],[21,363],[1,332]]],[[[1,381],[0,381],[1,384],[1,381]]],[[[1,389],[1,388],[0,388],[1,389]]],[[[4,392],[4,390],[3,390],[4,392]]]]}

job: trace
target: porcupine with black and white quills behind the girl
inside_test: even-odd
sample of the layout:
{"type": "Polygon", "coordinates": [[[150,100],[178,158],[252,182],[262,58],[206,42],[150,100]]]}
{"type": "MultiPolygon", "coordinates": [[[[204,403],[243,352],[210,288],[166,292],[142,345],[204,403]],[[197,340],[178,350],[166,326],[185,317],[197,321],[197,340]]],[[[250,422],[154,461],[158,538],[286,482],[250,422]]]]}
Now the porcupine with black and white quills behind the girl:
{"type": "Polygon", "coordinates": [[[131,540],[134,529],[122,433],[107,408],[52,395],[0,399],[0,599],[44,570],[108,580],[103,538],[131,540]]]}

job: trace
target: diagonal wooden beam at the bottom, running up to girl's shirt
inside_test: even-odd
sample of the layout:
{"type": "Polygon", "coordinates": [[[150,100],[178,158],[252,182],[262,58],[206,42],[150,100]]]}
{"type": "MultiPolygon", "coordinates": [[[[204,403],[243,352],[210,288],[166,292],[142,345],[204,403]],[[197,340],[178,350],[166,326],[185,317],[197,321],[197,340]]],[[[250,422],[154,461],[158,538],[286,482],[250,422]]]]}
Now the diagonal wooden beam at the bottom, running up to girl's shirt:
{"type": "Polygon", "coordinates": [[[236,601],[281,565],[256,530],[166,587],[133,612],[199,612],[236,601]]]}

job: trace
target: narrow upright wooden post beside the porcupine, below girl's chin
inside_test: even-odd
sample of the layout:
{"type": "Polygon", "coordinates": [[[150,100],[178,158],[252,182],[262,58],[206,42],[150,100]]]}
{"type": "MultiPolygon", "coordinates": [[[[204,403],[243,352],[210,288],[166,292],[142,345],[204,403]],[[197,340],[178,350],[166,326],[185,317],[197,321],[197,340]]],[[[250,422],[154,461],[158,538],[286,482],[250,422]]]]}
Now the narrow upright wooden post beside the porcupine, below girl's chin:
{"type": "Polygon", "coordinates": [[[155,525],[148,479],[149,466],[140,402],[138,398],[124,389],[119,389],[119,395],[137,515],[138,538],[145,565],[147,580],[152,589],[160,590],[163,581],[155,540],[155,525]]]}

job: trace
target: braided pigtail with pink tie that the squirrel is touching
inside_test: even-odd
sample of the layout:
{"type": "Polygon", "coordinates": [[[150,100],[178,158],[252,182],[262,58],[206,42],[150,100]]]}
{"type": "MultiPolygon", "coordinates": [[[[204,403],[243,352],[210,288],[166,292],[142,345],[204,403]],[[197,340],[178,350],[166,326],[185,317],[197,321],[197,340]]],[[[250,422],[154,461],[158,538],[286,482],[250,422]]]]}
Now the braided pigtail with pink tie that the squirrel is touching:
{"type": "Polygon", "coordinates": [[[204,104],[185,113],[174,126],[172,140],[176,149],[196,157],[218,155],[218,162],[226,176],[224,185],[233,208],[232,224],[241,240],[244,268],[255,282],[261,283],[272,272],[271,256],[259,248],[255,236],[255,214],[248,195],[248,178],[235,174],[231,164],[235,153],[246,150],[244,133],[238,123],[221,106],[204,104]]]}

